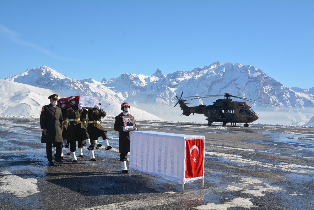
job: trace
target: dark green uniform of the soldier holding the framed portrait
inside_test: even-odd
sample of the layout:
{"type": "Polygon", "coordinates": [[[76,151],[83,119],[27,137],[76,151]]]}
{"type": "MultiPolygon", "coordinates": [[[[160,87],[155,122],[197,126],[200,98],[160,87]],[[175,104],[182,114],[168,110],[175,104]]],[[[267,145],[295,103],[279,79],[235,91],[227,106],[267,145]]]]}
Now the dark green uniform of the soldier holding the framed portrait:
{"type": "MultiPolygon", "coordinates": [[[[124,115],[123,113],[120,113],[118,116],[116,116],[115,119],[115,125],[114,130],[119,131],[119,153],[120,153],[120,161],[126,161],[127,160],[127,153],[130,152],[130,133],[124,132],[123,127],[123,118],[122,116],[128,116],[133,117],[131,114],[127,113],[127,115],[124,115]]],[[[138,126],[134,122],[134,126],[138,128],[138,126]]]]}

